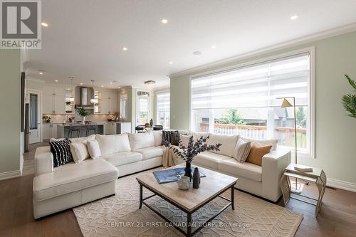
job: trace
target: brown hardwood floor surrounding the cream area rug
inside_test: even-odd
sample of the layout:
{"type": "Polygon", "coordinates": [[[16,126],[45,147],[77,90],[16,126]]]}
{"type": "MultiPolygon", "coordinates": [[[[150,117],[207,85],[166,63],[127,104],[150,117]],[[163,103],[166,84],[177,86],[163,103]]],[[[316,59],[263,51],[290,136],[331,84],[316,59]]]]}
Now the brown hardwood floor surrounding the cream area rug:
{"type": "MultiPolygon", "coordinates": [[[[24,157],[23,177],[0,181],[0,236],[82,236],[71,209],[38,221],[33,218],[33,156],[36,147],[47,144],[30,146],[24,157]]],[[[305,186],[303,192],[317,195],[312,184],[305,186]]],[[[356,193],[327,188],[323,202],[315,218],[314,206],[290,200],[286,208],[304,215],[295,236],[356,236],[356,193]]],[[[282,199],[277,204],[283,206],[282,199]]]]}

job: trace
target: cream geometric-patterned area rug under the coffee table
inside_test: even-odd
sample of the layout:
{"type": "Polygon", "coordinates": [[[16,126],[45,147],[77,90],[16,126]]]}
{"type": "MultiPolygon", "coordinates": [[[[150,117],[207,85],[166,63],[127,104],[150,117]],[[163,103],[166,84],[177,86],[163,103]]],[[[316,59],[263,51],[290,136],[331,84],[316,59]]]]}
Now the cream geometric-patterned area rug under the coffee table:
{"type": "MultiPolygon", "coordinates": [[[[73,211],[83,236],[183,236],[147,206],[138,209],[140,186],[135,178],[148,172],[152,170],[118,179],[115,196],[75,207],[73,211]]],[[[144,188],[144,197],[151,194],[144,188]]],[[[229,198],[230,191],[223,195],[229,198]]],[[[186,230],[187,215],[172,204],[157,196],[147,203],[186,230]]],[[[194,226],[225,205],[226,201],[217,198],[199,209],[192,215],[194,226]]],[[[196,236],[294,236],[302,220],[301,214],[236,190],[235,210],[229,207],[196,236]]]]}

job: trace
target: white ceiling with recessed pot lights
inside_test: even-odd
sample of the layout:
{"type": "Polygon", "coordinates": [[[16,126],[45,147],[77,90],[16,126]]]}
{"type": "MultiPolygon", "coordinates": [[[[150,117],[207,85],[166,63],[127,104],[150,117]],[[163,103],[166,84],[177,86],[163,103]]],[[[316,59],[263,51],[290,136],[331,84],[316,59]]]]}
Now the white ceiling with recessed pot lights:
{"type": "Polygon", "coordinates": [[[26,68],[48,82],[162,87],[169,74],[356,22],[355,9],[355,0],[42,0],[49,26],[26,68]]]}

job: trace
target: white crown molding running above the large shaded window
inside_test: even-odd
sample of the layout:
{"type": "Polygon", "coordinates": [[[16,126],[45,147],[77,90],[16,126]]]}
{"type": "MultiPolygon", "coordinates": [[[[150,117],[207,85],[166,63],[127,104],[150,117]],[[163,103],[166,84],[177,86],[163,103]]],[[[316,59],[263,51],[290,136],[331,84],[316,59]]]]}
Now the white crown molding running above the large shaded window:
{"type": "Polygon", "coordinates": [[[275,44],[273,46],[267,46],[267,47],[264,47],[264,48],[257,49],[256,51],[251,51],[251,52],[248,52],[248,53],[242,53],[242,54],[239,54],[238,56],[232,56],[232,57],[225,58],[225,59],[222,59],[222,60],[217,60],[217,61],[215,61],[213,63],[207,63],[207,64],[200,65],[200,66],[197,66],[197,67],[194,67],[194,68],[189,68],[187,70],[182,70],[182,71],[180,71],[178,73],[172,73],[170,75],[167,75],[167,77],[174,78],[174,77],[181,76],[181,75],[192,74],[192,73],[196,73],[199,70],[206,70],[206,69],[213,68],[213,67],[216,67],[216,66],[219,66],[219,65],[224,65],[226,63],[231,63],[231,62],[233,62],[235,60],[243,60],[243,59],[246,59],[246,58],[252,58],[252,57],[256,57],[256,56],[261,56],[262,54],[265,54],[265,53],[271,53],[273,51],[283,50],[285,48],[298,46],[298,45],[303,44],[303,43],[311,43],[313,41],[318,41],[318,40],[321,40],[321,39],[324,39],[324,38],[330,38],[330,37],[333,37],[333,36],[339,36],[339,35],[342,35],[342,34],[345,34],[345,33],[350,33],[352,31],[356,31],[356,22],[355,23],[350,23],[350,24],[345,25],[345,26],[331,28],[331,29],[329,29],[327,31],[320,31],[318,33],[313,33],[313,34],[310,34],[308,36],[295,38],[293,40],[285,41],[283,43],[277,43],[277,44],[275,44]]]}

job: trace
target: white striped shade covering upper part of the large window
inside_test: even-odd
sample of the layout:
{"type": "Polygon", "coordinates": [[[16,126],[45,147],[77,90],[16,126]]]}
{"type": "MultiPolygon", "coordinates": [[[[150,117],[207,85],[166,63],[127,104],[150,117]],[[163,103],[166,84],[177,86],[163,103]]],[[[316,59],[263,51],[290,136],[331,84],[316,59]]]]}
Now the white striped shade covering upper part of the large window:
{"type": "Polygon", "coordinates": [[[192,109],[279,106],[294,96],[308,105],[309,55],[303,54],[192,79],[192,109]]]}

